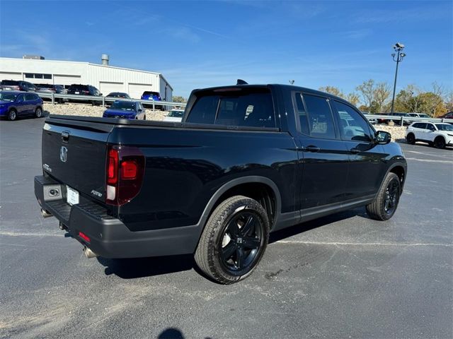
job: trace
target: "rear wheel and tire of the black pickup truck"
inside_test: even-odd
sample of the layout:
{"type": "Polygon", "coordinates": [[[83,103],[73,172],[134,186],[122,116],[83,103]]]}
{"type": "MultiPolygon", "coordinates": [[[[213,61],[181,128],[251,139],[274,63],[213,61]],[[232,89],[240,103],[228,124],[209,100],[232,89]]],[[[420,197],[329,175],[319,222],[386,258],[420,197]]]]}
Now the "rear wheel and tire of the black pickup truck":
{"type": "Polygon", "coordinates": [[[256,268],[268,239],[269,220],[263,206],[246,196],[233,196],[220,203],[207,220],[195,262],[218,283],[237,283],[256,268]]]}

